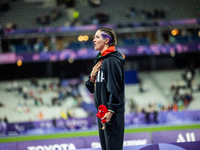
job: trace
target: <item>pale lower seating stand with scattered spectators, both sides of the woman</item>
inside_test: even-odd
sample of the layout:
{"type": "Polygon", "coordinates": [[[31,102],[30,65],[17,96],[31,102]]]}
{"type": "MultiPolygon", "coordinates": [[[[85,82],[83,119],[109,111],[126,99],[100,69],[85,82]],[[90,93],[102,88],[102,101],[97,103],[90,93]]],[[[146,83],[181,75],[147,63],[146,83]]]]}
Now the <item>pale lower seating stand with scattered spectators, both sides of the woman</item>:
{"type": "MultiPolygon", "coordinates": [[[[186,85],[186,81],[182,78],[183,73],[184,70],[140,72],[139,77],[143,84],[143,91],[140,90],[140,83],[126,84],[125,86],[126,112],[141,112],[148,104],[156,105],[160,111],[172,107],[174,100],[173,92],[170,88],[172,83],[186,85]],[[134,101],[136,105],[134,110],[131,110],[130,101],[134,101]]],[[[194,80],[200,84],[198,75],[194,80]]],[[[9,122],[26,122],[62,118],[61,112],[68,114],[69,110],[75,118],[87,117],[89,114],[85,109],[87,107],[86,104],[90,107],[94,107],[94,104],[93,97],[89,94],[84,84],[80,83],[76,91],[74,88],[72,90],[70,86],[57,87],[57,83],[58,79],[54,78],[38,79],[38,86],[31,84],[30,80],[1,82],[0,102],[4,104],[4,107],[1,108],[1,117],[7,116],[9,122]],[[22,87],[22,93],[26,93],[26,96],[22,93],[20,94],[19,87],[22,87]],[[62,89],[62,97],[59,95],[59,88],[62,89]],[[75,95],[79,93],[80,97],[73,96],[74,94],[72,93],[75,95]],[[53,99],[57,101],[53,102],[53,99]],[[39,117],[39,113],[43,114],[42,118],[39,117]]],[[[185,91],[187,90],[185,88],[185,91]]],[[[199,103],[199,90],[192,92],[192,95],[193,101],[188,106],[184,106],[183,109],[200,109],[199,105],[197,105],[199,103]]],[[[92,110],[90,108],[90,111],[92,110]]]]}

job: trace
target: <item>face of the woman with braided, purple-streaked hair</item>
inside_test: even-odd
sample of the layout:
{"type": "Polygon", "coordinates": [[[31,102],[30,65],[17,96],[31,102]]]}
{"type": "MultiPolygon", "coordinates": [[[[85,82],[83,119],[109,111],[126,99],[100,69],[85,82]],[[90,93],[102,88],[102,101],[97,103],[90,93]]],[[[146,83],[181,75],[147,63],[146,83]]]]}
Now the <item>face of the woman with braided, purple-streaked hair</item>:
{"type": "Polygon", "coordinates": [[[95,50],[98,50],[100,52],[105,49],[105,40],[103,39],[101,33],[102,32],[100,30],[97,30],[93,40],[95,50]]]}

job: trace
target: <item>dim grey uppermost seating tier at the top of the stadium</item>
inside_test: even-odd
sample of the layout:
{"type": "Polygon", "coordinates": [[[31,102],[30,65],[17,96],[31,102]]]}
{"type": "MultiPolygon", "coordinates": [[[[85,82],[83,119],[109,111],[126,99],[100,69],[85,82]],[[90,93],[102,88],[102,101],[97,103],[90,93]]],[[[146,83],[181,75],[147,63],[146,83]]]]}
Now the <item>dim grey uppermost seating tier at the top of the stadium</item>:
{"type": "MultiPolygon", "coordinates": [[[[53,9],[59,9],[63,15],[62,19],[58,18],[56,21],[50,21],[47,23],[47,25],[51,26],[63,26],[67,21],[72,21],[72,14],[74,11],[79,12],[79,18],[81,19],[88,16],[88,14],[95,15],[95,13],[103,11],[109,16],[107,23],[112,24],[121,24],[121,20],[123,20],[122,24],[127,24],[132,22],[151,22],[158,19],[187,19],[198,17],[197,4],[198,0],[192,0],[190,1],[190,4],[188,4],[187,1],[178,0],[170,0],[167,2],[158,2],[156,0],[127,0],[123,2],[120,0],[110,0],[106,2],[103,1],[98,7],[92,7],[87,1],[76,1],[74,8],[68,8],[65,5],[46,6],[45,3],[38,1],[26,2],[18,0],[9,3],[9,10],[1,15],[1,22],[4,25],[5,23],[15,23],[20,28],[35,28],[39,27],[36,24],[36,18],[38,16],[51,15],[53,9]],[[134,17],[126,17],[126,12],[130,7],[135,8],[134,17]],[[160,12],[162,12],[161,15],[160,12]]],[[[78,24],[82,24],[81,19],[79,19],[78,24]]]]}

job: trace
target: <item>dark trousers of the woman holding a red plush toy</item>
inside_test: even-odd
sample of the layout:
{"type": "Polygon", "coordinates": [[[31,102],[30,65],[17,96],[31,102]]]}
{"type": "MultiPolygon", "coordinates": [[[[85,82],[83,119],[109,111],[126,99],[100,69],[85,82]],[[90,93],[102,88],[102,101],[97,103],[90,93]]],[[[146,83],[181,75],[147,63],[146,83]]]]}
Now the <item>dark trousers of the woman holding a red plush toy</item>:
{"type": "Polygon", "coordinates": [[[114,113],[106,129],[101,130],[101,120],[98,118],[99,138],[102,150],[123,150],[124,112],[114,113]]]}

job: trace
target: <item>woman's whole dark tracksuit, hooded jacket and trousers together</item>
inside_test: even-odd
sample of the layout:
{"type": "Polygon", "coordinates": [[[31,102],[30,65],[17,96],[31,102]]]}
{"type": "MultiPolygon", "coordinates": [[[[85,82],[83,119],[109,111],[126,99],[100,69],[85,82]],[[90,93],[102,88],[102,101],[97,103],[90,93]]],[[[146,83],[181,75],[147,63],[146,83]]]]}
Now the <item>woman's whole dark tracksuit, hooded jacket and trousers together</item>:
{"type": "MultiPolygon", "coordinates": [[[[94,93],[95,107],[107,106],[113,111],[111,121],[106,125],[106,130],[99,130],[101,147],[103,150],[122,150],[124,138],[124,63],[121,53],[117,50],[105,56],[97,55],[93,66],[102,61],[102,66],[97,73],[96,83],[90,79],[85,83],[91,93],[94,93]],[[96,85],[95,85],[96,84],[96,85]]],[[[89,76],[90,77],[90,76],[89,76]]],[[[101,120],[98,119],[99,128],[101,120]]]]}

